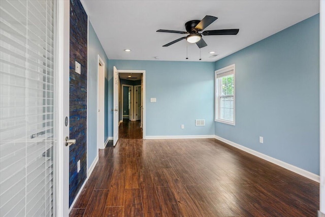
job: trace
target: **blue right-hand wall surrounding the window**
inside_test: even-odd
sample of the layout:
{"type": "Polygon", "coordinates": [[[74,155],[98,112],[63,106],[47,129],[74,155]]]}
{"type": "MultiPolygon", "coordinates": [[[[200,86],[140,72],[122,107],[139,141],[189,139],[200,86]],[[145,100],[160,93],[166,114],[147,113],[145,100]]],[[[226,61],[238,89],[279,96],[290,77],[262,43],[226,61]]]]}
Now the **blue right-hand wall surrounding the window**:
{"type": "Polygon", "coordinates": [[[215,122],[215,134],[319,174],[319,15],[218,60],[215,69],[231,64],[236,126],[215,122]]]}

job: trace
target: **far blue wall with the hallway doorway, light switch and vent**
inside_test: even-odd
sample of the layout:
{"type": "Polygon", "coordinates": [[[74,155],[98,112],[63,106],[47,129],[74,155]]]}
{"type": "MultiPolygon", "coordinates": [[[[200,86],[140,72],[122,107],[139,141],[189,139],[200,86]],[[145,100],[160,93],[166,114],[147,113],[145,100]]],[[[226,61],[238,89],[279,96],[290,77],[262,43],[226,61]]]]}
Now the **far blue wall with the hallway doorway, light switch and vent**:
{"type": "Polygon", "coordinates": [[[214,135],[214,63],[110,59],[109,136],[113,136],[113,66],[146,70],[146,136],[214,135]],[[157,102],[150,103],[150,98],[157,102]],[[195,119],[205,119],[206,126],[196,127],[195,119]]]}

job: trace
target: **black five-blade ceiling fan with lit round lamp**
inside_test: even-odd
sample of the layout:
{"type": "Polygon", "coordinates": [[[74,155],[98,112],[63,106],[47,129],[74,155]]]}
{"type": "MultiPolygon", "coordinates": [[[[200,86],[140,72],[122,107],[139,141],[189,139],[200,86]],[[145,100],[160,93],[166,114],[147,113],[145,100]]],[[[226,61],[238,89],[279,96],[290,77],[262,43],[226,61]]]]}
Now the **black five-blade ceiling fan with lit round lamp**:
{"type": "Polygon", "coordinates": [[[206,15],[202,20],[190,20],[185,23],[186,32],[177,31],[177,30],[167,30],[167,29],[159,29],[157,32],[159,33],[178,33],[178,34],[189,34],[188,36],[176,39],[168,44],[163,45],[163,47],[168,47],[176,42],[179,42],[183,39],[186,39],[189,43],[196,43],[199,48],[203,48],[207,46],[207,43],[202,39],[203,36],[220,36],[220,35],[237,35],[239,32],[238,28],[233,29],[218,29],[218,30],[206,30],[202,33],[203,29],[208,27],[211,23],[213,23],[217,17],[206,15]]]}

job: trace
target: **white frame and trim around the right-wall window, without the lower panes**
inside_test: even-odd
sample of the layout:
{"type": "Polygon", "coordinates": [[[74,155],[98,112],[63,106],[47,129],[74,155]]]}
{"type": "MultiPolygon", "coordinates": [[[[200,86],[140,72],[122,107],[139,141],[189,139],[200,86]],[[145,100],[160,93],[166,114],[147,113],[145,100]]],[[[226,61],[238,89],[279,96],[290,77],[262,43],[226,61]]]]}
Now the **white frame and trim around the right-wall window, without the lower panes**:
{"type": "Polygon", "coordinates": [[[236,85],[235,85],[235,64],[233,65],[230,65],[228,67],[224,67],[222,69],[219,69],[219,70],[216,70],[214,71],[214,121],[216,122],[221,122],[221,123],[227,123],[228,125],[234,125],[235,126],[235,109],[236,109],[236,85]],[[234,120],[233,121],[229,121],[229,120],[224,120],[224,119],[221,119],[219,117],[220,115],[220,88],[219,88],[219,79],[217,76],[219,74],[222,74],[222,73],[226,73],[226,72],[230,72],[230,71],[233,71],[234,73],[231,73],[231,74],[234,74],[234,120]]]}

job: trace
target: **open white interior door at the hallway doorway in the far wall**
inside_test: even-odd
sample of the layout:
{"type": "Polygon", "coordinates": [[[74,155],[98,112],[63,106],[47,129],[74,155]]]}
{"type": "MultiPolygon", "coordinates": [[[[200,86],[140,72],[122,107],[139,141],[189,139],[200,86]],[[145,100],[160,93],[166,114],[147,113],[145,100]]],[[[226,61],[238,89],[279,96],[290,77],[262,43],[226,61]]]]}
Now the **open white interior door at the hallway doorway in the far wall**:
{"type": "Polygon", "coordinates": [[[118,71],[113,67],[113,145],[115,146],[118,140],[118,71]]]}

